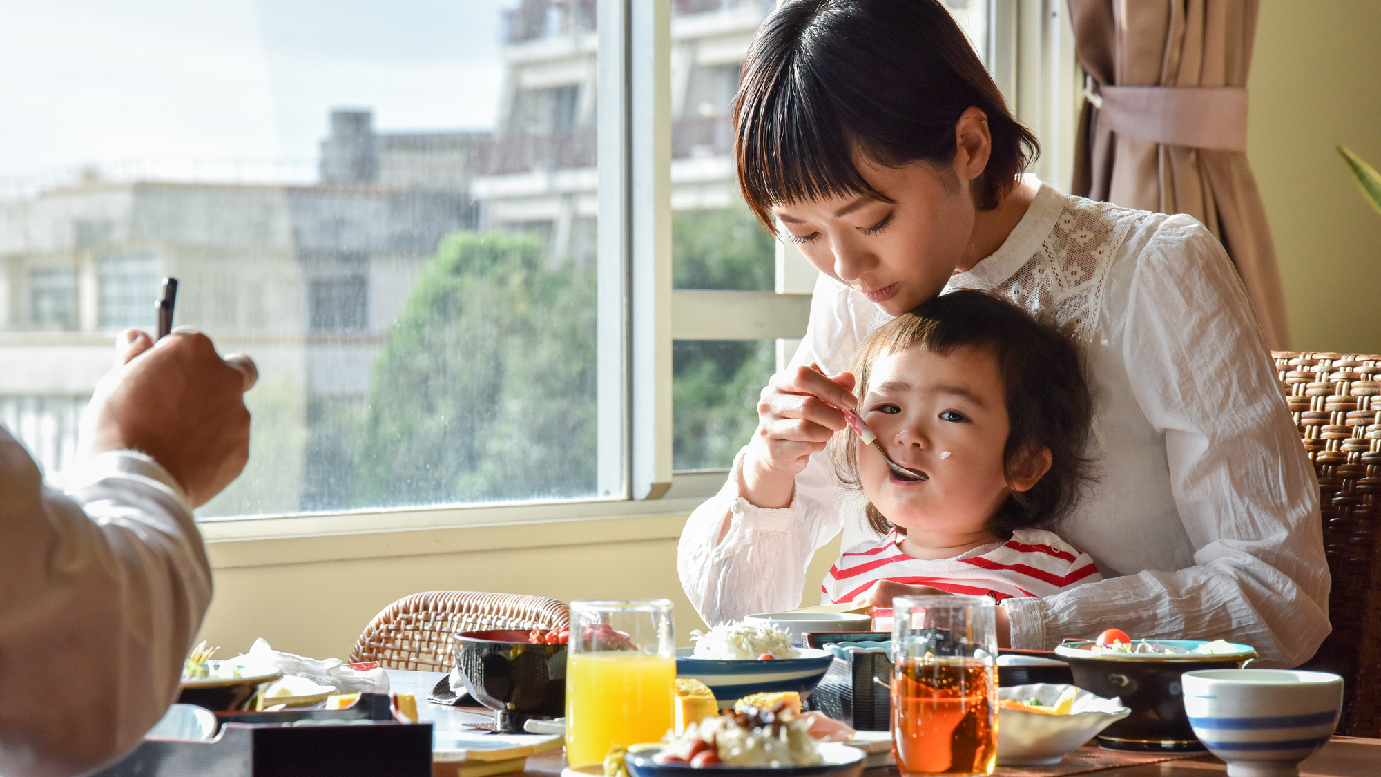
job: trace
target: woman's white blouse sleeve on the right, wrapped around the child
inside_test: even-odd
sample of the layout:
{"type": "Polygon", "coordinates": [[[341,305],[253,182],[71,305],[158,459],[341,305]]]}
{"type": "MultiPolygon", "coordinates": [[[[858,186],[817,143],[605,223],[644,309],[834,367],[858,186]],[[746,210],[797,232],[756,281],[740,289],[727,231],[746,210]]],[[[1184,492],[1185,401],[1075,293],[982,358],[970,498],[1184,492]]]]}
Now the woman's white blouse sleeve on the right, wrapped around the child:
{"type": "Polygon", "coordinates": [[[1250,303],[1222,246],[1185,216],[1166,220],[1134,272],[1121,353],[1164,434],[1195,565],[1014,601],[1012,643],[1116,625],[1222,637],[1255,647],[1264,665],[1298,665],[1330,629],[1319,492],[1250,303]]]}

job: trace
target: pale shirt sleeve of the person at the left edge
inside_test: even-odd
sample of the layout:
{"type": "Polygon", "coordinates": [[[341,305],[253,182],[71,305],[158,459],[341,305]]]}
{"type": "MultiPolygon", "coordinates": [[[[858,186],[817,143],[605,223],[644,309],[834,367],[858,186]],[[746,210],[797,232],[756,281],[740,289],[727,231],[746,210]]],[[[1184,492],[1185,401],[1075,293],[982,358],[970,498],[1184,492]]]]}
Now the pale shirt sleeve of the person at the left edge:
{"type": "Polygon", "coordinates": [[[43,485],[0,430],[0,774],[76,774],[177,698],[211,571],[177,483],[135,452],[43,485]]]}

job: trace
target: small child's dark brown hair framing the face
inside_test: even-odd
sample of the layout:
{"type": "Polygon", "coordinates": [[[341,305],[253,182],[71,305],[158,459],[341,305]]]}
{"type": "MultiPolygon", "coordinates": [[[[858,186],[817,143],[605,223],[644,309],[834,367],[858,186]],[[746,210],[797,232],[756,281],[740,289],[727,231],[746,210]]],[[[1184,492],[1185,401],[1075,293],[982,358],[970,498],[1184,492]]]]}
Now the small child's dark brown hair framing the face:
{"type": "MultiPolygon", "coordinates": [[[[1050,470],[1027,491],[1012,491],[987,528],[1003,539],[1012,530],[1052,527],[1079,502],[1092,481],[1092,462],[1084,455],[1094,402],[1084,377],[1079,346],[1052,325],[1032,318],[1000,297],[964,289],[940,294],[894,318],[863,339],[849,371],[858,383],[855,395],[869,391],[873,364],[881,355],[923,347],[947,355],[974,347],[993,355],[1007,404],[1007,445],[1003,466],[1008,480],[1032,452],[1050,451],[1050,470]]],[[[862,489],[856,434],[848,427],[830,440],[840,480],[862,489]]],[[[878,534],[894,527],[867,503],[869,525],[878,534]]]]}

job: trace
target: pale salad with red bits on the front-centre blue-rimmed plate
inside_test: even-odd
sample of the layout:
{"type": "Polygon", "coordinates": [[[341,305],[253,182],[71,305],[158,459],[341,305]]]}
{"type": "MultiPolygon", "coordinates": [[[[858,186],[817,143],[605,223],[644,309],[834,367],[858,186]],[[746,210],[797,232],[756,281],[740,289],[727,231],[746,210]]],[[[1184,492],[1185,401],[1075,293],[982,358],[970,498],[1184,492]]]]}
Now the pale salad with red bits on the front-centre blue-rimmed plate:
{"type": "Polygon", "coordinates": [[[673,737],[657,763],[690,766],[816,766],[824,763],[807,719],[786,702],[771,709],[725,712],[686,726],[673,737]]]}

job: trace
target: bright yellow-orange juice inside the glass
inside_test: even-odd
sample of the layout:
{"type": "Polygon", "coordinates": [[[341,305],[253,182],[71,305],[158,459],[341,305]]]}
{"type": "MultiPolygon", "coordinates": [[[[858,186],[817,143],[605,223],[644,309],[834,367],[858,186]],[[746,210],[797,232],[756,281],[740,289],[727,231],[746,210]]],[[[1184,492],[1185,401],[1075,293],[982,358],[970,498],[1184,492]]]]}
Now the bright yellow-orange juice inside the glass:
{"type": "Polygon", "coordinates": [[[627,651],[566,655],[566,762],[602,763],[612,745],[655,742],[671,729],[674,658],[627,651]]]}

